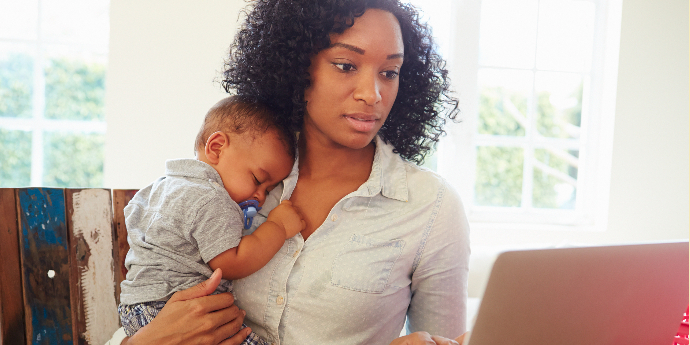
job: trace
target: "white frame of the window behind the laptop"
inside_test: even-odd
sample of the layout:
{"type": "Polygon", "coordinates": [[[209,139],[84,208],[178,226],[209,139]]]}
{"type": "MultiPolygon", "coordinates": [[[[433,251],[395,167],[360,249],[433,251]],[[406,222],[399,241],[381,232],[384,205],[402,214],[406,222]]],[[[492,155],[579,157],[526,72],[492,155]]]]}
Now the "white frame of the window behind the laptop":
{"type": "MultiPolygon", "coordinates": [[[[475,229],[602,231],[606,228],[622,0],[586,1],[596,6],[595,43],[589,85],[584,86],[589,88],[590,97],[583,103],[583,113],[586,107],[588,115],[583,116],[581,124],[578,196],[573,210],[473,205],[477,146],[510,144],[513,138],[487,138],[477,134],[478,71],[482,68],[479,64],[481,0],[450,2],[454,28],[446,58],[460,99],[461,123],[447,126],[448,135],[439,143],[436,153],[437,171],[460,193],[475,229]]],[[[531,167],[523,171],[527,170],[531,171],[531,167]]],[[[523,184],[523,189],[528,187],[523,184]]]]}

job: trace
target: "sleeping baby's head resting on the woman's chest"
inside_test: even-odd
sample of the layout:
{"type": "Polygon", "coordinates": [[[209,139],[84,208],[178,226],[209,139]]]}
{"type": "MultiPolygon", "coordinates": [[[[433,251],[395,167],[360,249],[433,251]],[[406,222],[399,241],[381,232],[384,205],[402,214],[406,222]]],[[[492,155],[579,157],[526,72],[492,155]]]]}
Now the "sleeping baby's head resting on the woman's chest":
{"type": "Polygon", "coordinates": [[[204,118],[196,157],[216,169],[237,203],[256,199],[263,205],[292,170],[295,139],[274,118],[266,106],[240,96],[216,103],[204,118]]]}

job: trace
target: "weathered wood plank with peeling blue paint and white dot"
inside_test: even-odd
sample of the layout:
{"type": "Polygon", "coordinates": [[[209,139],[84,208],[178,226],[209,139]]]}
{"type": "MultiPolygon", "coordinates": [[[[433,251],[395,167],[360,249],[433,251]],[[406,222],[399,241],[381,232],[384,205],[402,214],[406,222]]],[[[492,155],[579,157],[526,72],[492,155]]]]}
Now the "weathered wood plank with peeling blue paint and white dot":
{"type": "Polygon", "coordinates": [[[17,198],[27,343],[72,344],[64,191],[22,188],[17,198]]]}

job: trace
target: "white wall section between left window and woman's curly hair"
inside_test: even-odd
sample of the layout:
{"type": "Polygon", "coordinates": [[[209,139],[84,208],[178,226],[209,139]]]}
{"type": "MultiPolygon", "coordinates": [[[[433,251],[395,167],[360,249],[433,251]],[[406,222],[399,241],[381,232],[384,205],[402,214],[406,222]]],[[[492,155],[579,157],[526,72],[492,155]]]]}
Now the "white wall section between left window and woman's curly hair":
{"type": "Polygon", "coordinates": [[[110,8],[104,185],[142,188],[193,157],[242,0],[118,0],[110,8]]]}

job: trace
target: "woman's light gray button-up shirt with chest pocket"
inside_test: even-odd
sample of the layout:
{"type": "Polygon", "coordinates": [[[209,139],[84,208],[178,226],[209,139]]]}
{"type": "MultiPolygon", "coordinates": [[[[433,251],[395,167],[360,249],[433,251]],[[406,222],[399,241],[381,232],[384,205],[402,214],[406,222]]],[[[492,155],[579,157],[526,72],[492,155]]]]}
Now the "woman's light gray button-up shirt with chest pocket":
{"type": "MultiPolygon", "coordinates": [[[[267,198],[254,228],[297,184],[267,198]]],[[[276,344],[388,344],[408,329],[449,338],[465,331],[469,227],[458,194],[376,138],[369,179],[340,200],[305,241],[235,280],[245,323],[276,344]]]]}

